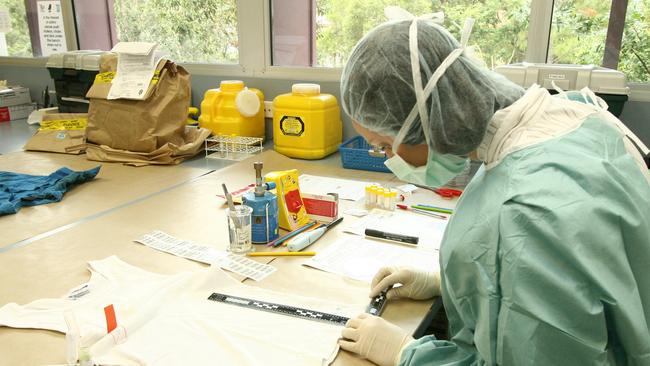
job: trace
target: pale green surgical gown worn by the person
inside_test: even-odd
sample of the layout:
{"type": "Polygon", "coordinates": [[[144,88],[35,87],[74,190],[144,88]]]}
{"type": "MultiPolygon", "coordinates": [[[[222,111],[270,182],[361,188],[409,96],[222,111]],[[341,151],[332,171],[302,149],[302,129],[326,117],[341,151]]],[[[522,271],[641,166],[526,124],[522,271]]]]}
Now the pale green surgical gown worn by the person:
{"type": "Polygon", "coordinates": [[[597,114],[481,169],[440,249],[450,341],[400,365],[650,365],[650,186],[597,114]]]}

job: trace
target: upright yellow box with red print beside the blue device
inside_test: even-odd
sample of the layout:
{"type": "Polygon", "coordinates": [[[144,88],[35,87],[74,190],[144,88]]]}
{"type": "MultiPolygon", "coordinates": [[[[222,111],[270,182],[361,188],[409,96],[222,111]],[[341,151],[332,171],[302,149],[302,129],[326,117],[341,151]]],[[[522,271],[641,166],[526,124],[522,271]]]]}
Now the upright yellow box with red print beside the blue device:
{"type": "Polygon", "coordinates": [[[307,224],[309,217],[300,195],[298,170],[269,172],[264,176],[264,179],[267,182],[275,183],[278,210],[280,211],[279,226],[284,230],[293,231],[307,224]]]}

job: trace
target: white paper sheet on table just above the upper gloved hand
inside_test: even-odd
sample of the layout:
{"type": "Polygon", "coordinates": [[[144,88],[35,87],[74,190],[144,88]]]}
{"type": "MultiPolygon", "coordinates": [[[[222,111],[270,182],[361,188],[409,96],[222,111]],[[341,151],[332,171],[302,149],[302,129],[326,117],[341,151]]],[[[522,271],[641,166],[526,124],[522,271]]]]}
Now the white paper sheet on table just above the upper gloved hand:
{"type": "Polygon", "coordinates": [[[368,283],[383,266],[439,268],[437,253],[358,237],[334,242],[303,265],[368,283]]]}

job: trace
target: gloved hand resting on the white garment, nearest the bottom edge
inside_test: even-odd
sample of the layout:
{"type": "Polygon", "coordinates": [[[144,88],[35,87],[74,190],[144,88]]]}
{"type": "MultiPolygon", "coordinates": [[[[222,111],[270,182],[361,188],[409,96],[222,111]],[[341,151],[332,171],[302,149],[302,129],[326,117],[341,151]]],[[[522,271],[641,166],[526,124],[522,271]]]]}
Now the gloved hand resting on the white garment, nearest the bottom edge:
{"type": "Polygon", "coordinates": [[[397,325],[366,313],[348,320],[341,334],[341,348],[379,366],[397,365],[402,350],[414,340],[397,325]]]}

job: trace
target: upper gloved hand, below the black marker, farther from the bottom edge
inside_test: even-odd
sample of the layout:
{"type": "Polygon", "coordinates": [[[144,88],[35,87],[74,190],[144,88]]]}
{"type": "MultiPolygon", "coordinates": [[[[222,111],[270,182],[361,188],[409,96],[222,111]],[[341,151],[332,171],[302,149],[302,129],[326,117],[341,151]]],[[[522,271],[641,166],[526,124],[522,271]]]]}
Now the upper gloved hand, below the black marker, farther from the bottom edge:
{"type": "Polygon", "coordinates": [[[408,297],[424,300],[440,295],[440,272],[393,266],[379,269],[370,284],[370,297],[379,295],[381,291],[397,283],[402,286],[388,290],[387,299],[408,297]]]}

